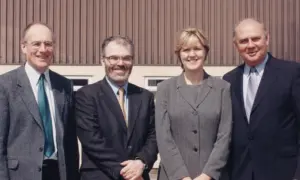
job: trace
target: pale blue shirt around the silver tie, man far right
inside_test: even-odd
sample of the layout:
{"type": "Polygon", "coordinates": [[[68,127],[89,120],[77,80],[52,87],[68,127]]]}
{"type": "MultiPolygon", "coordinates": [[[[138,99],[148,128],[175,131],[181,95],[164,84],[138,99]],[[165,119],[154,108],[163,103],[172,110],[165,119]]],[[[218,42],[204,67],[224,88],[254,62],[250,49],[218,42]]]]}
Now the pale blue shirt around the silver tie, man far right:
{"type": "MultiPolygon", "coordinates": [[[[255,66],[255,69],[257,70],[258,76],[256,84],[260,84],[261,78],[264,74],[265,66],[268,61],[268,54],[266,55],[264,61],[257,66],[255,66]]],[[[247,96],[247,87],[248,87],[248,81],[249,81],[249,72],[250,72],[250,66],[245,64],[244,66],[244,74],[243,74],[243,98],[244,102],[246,102],[246,96],[247,96]]]]}

